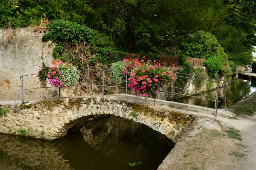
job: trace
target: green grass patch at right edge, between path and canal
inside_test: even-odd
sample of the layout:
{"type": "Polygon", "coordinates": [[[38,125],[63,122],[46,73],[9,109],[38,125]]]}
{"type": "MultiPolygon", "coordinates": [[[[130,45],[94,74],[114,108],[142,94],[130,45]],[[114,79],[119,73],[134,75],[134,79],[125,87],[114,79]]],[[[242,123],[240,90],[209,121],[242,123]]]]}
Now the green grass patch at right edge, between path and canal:
{"type": "Polygon", "coordinates": [[[252,116],[254,112],[256,112],[256,94],[248,97],[247,100],[239,103],[238,105],[233,105],[231,109],[236,115],[252,116]]]}

